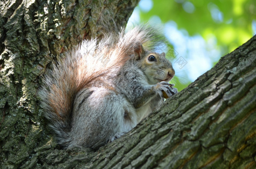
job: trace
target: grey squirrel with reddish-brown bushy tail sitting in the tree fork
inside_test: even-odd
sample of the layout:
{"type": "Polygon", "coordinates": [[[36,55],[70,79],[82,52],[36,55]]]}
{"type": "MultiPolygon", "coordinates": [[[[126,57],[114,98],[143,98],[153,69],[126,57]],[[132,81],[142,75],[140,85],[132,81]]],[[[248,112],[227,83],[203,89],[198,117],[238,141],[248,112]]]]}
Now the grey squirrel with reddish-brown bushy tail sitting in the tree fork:
{"type": "Polygon", "coordinates": [[[165,53],[150,51],[156,34],[135,27],[84,40],[46,73],[41,107],[61,147],[98,149],[178,92],[165,53]]]}

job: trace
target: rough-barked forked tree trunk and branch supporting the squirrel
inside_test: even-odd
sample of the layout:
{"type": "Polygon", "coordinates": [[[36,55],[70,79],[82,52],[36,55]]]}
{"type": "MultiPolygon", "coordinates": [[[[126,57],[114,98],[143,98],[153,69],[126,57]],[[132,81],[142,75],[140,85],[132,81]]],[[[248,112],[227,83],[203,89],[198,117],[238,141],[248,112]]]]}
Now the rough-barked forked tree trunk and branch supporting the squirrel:
{"type": "Polygon", "coordinates": [[[256,36],[123,137],[61,150],[38,106],[42,74],[99,23],[125,26],[138,2],[0,3],[1,168],[256,168],[256,36]]]}

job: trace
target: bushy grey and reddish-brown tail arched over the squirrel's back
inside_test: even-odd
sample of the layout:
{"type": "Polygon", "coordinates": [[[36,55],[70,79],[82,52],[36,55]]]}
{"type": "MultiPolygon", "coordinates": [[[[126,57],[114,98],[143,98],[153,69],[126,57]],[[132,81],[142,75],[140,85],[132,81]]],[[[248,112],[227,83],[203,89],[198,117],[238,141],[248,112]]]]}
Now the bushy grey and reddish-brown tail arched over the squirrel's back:
{"type": "Polygon", "coordinates": [[[65,59],[53,65],[44,78],[39,96],[44,115],[60,145],[67,147],[72,139],[69,132],[76,93],[95,78],[120,68],[134,53],[136,42],[149,50],[159,45],[162,39],[158,35],[146,26],[107,34],[100,41],[83,41],[67,53],[65,59]]]}

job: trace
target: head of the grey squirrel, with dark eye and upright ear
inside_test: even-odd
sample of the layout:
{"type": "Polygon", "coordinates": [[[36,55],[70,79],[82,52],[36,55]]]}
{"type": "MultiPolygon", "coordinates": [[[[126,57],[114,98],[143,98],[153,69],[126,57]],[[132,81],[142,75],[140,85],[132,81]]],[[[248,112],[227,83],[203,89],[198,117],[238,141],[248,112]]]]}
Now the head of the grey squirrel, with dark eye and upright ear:
{"type": "Polygon", "coordinates": [[[134,48],[136,65],[145,73],[149,84],[161,81],[169,82],[175,71],[172,63],[165,58],[165,53],[155,53],[145,50],[140,42],[134,48]]]}

